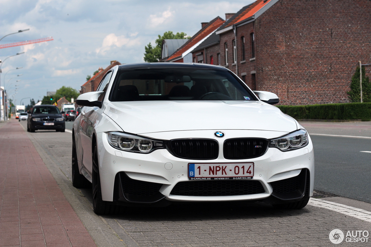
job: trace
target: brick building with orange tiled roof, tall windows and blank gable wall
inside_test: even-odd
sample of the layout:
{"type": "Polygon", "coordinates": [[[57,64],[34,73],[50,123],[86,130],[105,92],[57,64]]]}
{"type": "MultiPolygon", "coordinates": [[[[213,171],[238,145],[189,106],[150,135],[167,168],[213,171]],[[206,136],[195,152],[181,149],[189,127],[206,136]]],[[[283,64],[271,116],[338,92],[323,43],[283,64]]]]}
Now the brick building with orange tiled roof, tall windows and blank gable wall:
{"type": "Polygon", "coordinates": [[[220,56],[283,105],[349,102],[358,60],[371,63],[370,10],[370,0],[257,0],[192,50],[193,61],[217,65],[220,56]]]}

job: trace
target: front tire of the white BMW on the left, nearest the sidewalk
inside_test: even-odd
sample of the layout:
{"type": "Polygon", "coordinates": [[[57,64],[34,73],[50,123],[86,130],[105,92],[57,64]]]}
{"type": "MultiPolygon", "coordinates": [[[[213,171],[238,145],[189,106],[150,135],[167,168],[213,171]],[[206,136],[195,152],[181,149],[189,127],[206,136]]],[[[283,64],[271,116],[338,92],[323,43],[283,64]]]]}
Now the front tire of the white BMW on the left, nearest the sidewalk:
{"type": "Polygon", "coordinates": [[[92,172],[92,194],[93,194],[93,211],[96,214],[113,214],[119,211],[118,205],[102,200],[101,177],[99,176],[98,149],[96,144],[92,153],[93,172],[92,172]]]}

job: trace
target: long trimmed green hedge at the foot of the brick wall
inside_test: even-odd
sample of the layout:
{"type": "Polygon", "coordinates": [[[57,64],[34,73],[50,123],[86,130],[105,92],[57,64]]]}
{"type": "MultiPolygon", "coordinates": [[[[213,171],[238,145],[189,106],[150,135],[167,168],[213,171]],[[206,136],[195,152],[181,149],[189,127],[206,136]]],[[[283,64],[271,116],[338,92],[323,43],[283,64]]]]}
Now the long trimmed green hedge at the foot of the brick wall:
{"type": "Polygon", "coordinates": [[[277,106],[295,119],[370,119],[371,103],[338,103],[325,105],[277,106]]]}

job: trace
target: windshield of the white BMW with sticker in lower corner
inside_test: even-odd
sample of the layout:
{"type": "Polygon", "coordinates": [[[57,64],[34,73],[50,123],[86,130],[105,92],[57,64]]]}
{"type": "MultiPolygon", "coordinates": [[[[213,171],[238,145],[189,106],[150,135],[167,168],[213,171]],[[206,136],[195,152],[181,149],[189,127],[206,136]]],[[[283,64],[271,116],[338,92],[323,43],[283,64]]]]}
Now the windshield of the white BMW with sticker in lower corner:
{"type": "Polygon", "coordinates": [[[221,69],[146,68],[122,71],[111,101],[255,100],[232,73],[221,69]]]}

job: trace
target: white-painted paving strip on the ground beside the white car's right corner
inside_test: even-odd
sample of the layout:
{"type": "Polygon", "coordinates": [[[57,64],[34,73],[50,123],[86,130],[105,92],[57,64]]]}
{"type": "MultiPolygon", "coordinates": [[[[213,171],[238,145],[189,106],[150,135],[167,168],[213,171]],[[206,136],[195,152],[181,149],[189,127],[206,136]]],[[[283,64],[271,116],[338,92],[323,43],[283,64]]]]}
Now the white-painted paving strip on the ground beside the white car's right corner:
{"type": "Polygon", "coordinates": [[[326,201],[319,198],[310,198],[308,204],[315,207],[326,208],[341,214],[352,216],[358,218],[359,220],[371,222],[371,212],[360,208],[339,204],[333,201],[326,201]]]}

